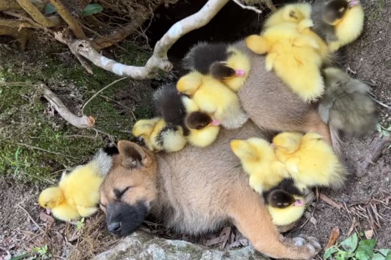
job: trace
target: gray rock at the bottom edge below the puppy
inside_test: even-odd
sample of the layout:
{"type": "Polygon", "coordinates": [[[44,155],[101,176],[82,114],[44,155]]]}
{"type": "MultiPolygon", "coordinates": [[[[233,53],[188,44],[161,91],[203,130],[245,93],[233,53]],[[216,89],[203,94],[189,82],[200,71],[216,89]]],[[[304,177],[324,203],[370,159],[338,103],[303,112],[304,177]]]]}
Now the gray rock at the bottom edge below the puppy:
{"type": "Polygon", "coordinates": [[[251,245],[236,250],[216,250],[183,240],[157,238],[137,231],[119,240],[94,260],[270,260],[251,245]]]}

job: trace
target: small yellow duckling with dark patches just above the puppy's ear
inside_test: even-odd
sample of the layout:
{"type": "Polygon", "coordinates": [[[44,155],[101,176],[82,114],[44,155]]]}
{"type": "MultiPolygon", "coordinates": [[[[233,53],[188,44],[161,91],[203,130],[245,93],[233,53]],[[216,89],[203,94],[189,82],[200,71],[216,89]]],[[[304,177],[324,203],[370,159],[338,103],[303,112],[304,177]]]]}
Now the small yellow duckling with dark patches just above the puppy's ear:
{"type": "Polygon", "coordinates": [[[168,125],[162,118],[138,120],[132,129],[136,137],[143,138],[152,152],[176,152],[185,147],[187,140],[181,126],[168,125]]]}

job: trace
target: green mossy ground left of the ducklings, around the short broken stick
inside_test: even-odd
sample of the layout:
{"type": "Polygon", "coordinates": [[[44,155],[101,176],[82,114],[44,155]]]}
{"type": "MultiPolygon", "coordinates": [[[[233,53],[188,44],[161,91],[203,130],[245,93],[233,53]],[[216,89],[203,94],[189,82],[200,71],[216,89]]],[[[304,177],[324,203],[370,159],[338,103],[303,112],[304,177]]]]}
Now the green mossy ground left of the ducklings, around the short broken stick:
{"type": "MultiPolygon", "coordinates": [[[[130,45],[119,55],[123,62],[141,65],[149,52],[130,45]]],[[[85,162],[98,148],[132,139],[135,118],[152,115],[151,82],[126,79],[107,88],[85,108],[84,112],[97,120],[100,132],[78,129],[58,114],[50,115],[48,102],[34,84],[44,82],[80,115],[82,105],[96,91],[119,77],[95,66],[89,75],[69,54],[50,50],[28,57],[31,51],[8,49],[0,56],[0,173],[17,181],[55,183],[62,169],[85,162]],[[126,102],[122,103],[124,95],[126,102]]]]}

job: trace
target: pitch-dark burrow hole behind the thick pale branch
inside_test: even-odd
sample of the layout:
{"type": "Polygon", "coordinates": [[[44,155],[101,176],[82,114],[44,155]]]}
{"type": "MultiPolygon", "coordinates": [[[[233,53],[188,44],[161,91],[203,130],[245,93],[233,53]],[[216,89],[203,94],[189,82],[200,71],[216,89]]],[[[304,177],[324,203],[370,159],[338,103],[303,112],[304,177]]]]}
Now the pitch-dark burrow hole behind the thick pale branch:
{"type": "MultiPolygon", "coordinates": [[[[206,1],[179,0],[174,5],[168,7],[162,5],[157,8],[152,22],[148,20],[145,23],[145,26],[151,23],[146,32],[151,48],[175,22],[196,13],[206,1]]],[[[273,2],[279,6],[282,0],[273,2]]],[[[262,14],[258,14],[252,10],[242,9],[235,2],[229,1],[208,24],[180,38],[169,50],[169,60],[174,63],[176,69],[178,62],[199,41],[233,42],[250,34],[258,34],[265,16],[269,13],[268,8],[265,8],[262,14]]]]}

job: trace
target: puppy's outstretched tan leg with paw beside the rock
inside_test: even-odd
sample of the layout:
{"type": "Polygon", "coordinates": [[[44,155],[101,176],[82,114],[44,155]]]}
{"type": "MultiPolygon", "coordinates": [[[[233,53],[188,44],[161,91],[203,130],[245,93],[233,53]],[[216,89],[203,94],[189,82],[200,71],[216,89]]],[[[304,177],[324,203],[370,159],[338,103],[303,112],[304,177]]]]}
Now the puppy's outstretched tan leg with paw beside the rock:
{"type": "Polygon", "coordinates": [[[277,259],[311,259],[320,251],[315,238],[283,238],[258,193],[244,188],[235,197],[229,205],[232,222],[261,253],[277,259]]]}

